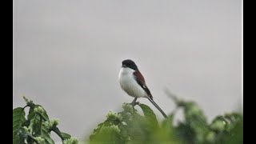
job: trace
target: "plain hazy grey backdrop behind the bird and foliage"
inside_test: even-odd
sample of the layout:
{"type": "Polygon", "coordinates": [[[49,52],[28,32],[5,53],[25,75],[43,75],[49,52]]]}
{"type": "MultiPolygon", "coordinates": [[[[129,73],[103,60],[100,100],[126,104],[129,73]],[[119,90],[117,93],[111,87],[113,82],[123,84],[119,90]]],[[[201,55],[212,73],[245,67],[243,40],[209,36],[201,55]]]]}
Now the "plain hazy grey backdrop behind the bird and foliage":
{"type": "Polygon", "coordinates": [[[14,0],[13,106],[26,95],[82,138],[133,100],[118,83],[131,58],[167,114],[165,87],[211,120],[241,103],[241,23],[239,0],[14,0]]]}

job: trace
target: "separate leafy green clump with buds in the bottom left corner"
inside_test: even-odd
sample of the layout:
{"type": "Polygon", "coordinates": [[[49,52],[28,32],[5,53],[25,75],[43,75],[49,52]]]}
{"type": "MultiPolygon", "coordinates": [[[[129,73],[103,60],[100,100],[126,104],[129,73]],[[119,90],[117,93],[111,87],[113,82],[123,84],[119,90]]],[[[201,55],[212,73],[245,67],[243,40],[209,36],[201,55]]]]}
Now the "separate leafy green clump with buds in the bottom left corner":
{"type": "Polygon", "coordinates": [[[13,110],[13,143],[14,144],[54,144],[50,132],[54,131],[62,139],[63,144],[77,144],[78,140],[58,130],[58,119],[50,119],[46,110],[25,98],[26,106],[13,110]],[[29,114],[25,108],[30,107],[29,114]]]}

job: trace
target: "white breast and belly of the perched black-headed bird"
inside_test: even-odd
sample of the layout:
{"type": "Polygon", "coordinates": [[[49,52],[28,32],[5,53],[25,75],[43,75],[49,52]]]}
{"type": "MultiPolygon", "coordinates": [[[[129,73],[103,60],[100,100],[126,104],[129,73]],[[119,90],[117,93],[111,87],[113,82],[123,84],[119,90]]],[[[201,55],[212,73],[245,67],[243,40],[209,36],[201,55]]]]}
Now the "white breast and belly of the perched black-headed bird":
{"type": "Polygon", "coordinates": [[[122,90],[125,90],[127,94],[135,98],[146,97],[145,90],[138,85],[134,79],[134,71],[128,67],[122,67],[119,72],[118,79],[122,90]]]}

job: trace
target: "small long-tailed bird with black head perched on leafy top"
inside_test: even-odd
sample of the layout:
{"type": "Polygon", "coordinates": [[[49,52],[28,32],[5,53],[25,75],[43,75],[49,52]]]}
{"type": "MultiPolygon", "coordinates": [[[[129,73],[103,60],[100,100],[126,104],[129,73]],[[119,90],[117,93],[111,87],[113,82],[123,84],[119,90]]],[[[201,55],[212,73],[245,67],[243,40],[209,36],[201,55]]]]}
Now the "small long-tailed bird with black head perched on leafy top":
{"type": "Polygon", "coordinates": [[[146,86],[142,73],[138,70],[138,66],[134,61],[126,59],[122,61],[122,67],[118,74],[119,84],[126,94],[134,97],[131,104],[134,106],[138,98],[147,98],[150,102],[167,118],[167,115],[153,100],[149,88],[146,86]]]}

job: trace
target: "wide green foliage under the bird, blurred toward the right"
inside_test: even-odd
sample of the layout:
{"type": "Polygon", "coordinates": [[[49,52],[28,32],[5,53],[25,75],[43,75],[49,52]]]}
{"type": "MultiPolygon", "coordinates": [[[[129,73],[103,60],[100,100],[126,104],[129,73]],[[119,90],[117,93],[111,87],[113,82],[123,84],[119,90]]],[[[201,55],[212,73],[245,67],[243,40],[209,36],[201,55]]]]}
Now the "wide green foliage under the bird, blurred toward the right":
{"type": "Polygon", "coordinates": [[[129,103],[123,111],[106,115],[90,135],[90,143],[243,143],[242,114],[230,113],[217,116],[210,123],[195,102],[187,102],[169,94],[176,109],[162,122],[153,110],[138,104],[143,115],[129,103]],[[176,110],[181,109],[184,120],[174,125],[176,110]]]}

